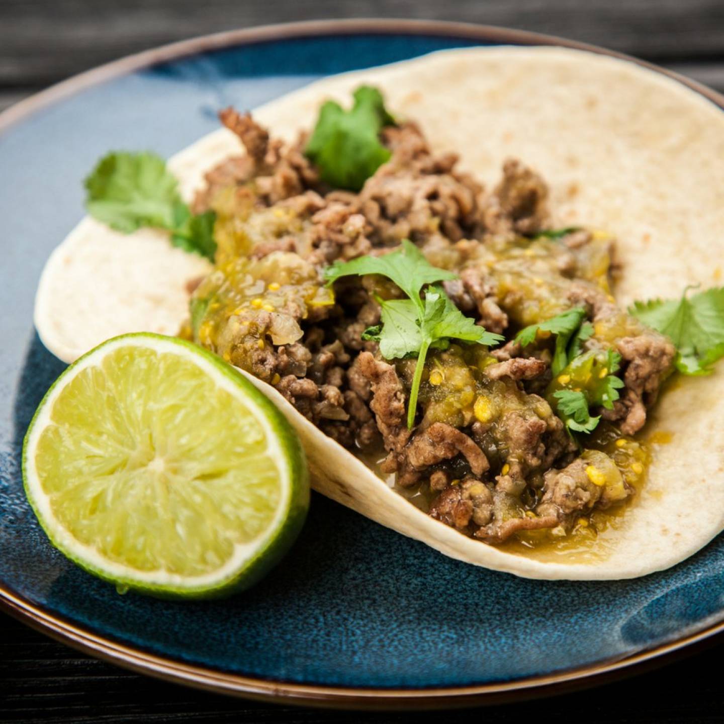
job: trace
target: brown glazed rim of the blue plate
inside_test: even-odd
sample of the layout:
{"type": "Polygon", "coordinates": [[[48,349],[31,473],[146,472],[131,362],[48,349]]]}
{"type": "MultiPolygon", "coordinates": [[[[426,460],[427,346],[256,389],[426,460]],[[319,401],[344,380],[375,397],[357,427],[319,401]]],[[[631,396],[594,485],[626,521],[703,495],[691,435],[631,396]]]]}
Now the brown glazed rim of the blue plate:
{"type": "MultiPolygon", "coordinates": [[[[334,35],[439,35],[472,41],[513,43],[523,46],[561,46],[615,57],[660,73],[683,83],[724,110],[724,95],[702,83],[659,67],[656,64],[589,43],[559,38],[555,35],[534,33],[529,30],[501,28],[470,22],[444,20],[405,20],[356,18],[349,20],[308,20],[253,28],[225,30],[221,33],[200,35],[188,40],[169,43],[102,64],[51,85],[29,98],[10,106],[0,113],[0,134],[44,108],[74,96],[82,90],[101,85],[117,77],[143,70],[205,51],[221,50],[232,46],[254,45],[292,38],[325,37],[334,35]]],[[[532,699],[550,696],[575,688],[594,686],[628,673],[640,673],[647,668],[662,665],[683,649],[693,653],[704,645],[715,642],[715,636],[724,633],[724,620],[712,623],[694,633],[666,641],[656,647],[644,649],[626,657],[604,660],[553,674],[526,676],[511,681],[471,684],[468,686],[433,686],[421,689],[352,687],[324,684],[274,681],[269,678],[225,672],[203,665],[189,664],[172,657],[151,654],[140,647],[121,644],[109,637],[94,633],[88,626],[49,613],[41,606],[12,591],[0,581],[0,610],[21,620],[31,628],[45,633],[72,648],[109,661],[137,673],[155,676],[166,681],[185,684],[221,694],[244,696],[277,703],[292,703],[317,707],[344,707],[349,709],[432,709],[497,704],[512,699],[532,699]]]]}

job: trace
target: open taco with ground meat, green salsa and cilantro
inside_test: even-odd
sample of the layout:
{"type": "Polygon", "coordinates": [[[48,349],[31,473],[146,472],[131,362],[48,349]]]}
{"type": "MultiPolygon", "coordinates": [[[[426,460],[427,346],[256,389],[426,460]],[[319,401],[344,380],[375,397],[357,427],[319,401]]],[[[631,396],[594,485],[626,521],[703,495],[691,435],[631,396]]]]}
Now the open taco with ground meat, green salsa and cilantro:
{"type": "Polygon", "coordinates": [[[90,177],[38,289],[51,351],[181,328],[287,415],[319,492],[475,565],[629,578],[720,532],[724,296],[685,291],[720,278],[720,109],[502,47],[220,117],[169,163],[188,208],[119,214],[139,157],[90,177]]]}

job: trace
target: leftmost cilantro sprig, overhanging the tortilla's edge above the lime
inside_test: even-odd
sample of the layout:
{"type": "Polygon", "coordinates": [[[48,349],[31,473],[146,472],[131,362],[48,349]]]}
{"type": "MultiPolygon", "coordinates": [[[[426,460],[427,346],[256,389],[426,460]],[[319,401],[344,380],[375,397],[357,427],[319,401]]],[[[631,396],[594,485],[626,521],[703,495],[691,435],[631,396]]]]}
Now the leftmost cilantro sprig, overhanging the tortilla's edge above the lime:
{"type": "Polygon", "coordinates": [[[176,178],[155,153],[109,153],[85,179],[85,189],[88,213],[111,229],[164,229],[174,246],[214,261],[216,215],[191,213],[176,178]]]}

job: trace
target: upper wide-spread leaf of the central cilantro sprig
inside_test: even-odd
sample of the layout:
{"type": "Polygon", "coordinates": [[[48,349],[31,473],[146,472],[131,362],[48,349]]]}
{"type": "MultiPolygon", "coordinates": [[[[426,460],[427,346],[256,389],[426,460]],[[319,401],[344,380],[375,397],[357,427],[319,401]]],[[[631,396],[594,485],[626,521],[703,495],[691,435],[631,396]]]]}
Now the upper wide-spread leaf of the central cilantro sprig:
{"type": "Polygon", "coordinates": [[[324,279],[329,286],[340,277],[353,274],[382,274],[383,277],[392,279],[413,300],[420,316],[424,313],[424,304],[420,298],[422,287],[457,277],[452,271],[432,266],[416,245],[407,239],[403,239],[400,251],[393,251],[391,254],[359,256],[352,261],[335,262],[324,270],[324,279]]]}

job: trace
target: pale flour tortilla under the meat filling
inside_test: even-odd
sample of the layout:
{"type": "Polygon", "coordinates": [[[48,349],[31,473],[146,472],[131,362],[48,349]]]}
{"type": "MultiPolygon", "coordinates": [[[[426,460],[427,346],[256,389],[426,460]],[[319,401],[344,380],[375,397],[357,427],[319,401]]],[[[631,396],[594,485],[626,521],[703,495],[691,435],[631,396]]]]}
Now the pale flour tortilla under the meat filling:
{"type": "MultiPolygon", "coordinates": [[[[675,80],[583,51],[466,49],[321,80],[254,115],[292,140],[322,101],[348,104],[361,83],[381,88],[398,117],[420,122],[435,149],[459,151],[461,167],[488,186],[506,157],[518,157],[549,182],[555,226],[618,237],[622,305],[720,283],[724,114],[675,80]]],[[[182,193],[190,198],[203,172],[238,153],[222,129],[174,156],[182,193]]],[[[153,232],[126,237],[84,219],[48,261],[35,324],[68,362],[114,334],[175,334],[187,313],[185,282],[207,269],[153,232]]],[[[652,429],[672,442],[657,446],[643,492],[591,551],[566,555],[504,552],[434,521],[253,382],[298,430],[319,492],[468,563],[529,578],[610,579],[668,568],[723,529],[723,372],[679,379],[663,395],[652,429]]]]}

